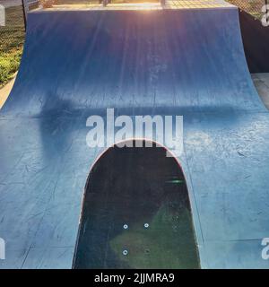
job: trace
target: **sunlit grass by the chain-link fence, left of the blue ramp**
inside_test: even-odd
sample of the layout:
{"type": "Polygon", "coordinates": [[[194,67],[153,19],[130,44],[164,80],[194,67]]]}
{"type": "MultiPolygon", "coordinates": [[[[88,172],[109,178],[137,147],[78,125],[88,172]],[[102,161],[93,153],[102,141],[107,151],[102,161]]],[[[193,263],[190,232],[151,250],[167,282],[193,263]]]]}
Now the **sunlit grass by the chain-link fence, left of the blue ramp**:
{"type": "Polygon", "coordinates": [[[0,27],[0,87],[18,70],[24,43],[22,6],[7,8],[6,25],[0,27]]]}

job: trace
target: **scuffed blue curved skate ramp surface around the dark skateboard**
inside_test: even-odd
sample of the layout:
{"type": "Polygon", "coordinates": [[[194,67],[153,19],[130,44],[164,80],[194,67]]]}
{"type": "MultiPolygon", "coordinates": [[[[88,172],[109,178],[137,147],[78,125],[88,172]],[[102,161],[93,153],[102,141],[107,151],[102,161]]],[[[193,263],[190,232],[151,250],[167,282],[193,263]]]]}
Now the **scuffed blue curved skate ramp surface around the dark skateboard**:
{"type": "Polygon", "coordinates": [[[0,111],[1,268],[70,268],[83,188],[104,149],[86,118],[183,115],[178,158],[204,268],[267,268],[269,116],[236,8],[30,13],[0,111]]]}

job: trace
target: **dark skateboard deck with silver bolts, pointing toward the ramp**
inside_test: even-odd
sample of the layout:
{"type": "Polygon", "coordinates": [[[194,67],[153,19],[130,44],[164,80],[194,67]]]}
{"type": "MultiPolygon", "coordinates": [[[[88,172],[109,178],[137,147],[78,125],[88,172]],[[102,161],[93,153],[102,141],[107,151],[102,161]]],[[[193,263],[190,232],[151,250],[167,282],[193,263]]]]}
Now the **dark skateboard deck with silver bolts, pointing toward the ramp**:
{"type": "Polygon", "coordinates": [[[178,161],[155,143],[109,148],[85,187],[74,268],[199,267],[178,161]]]}

